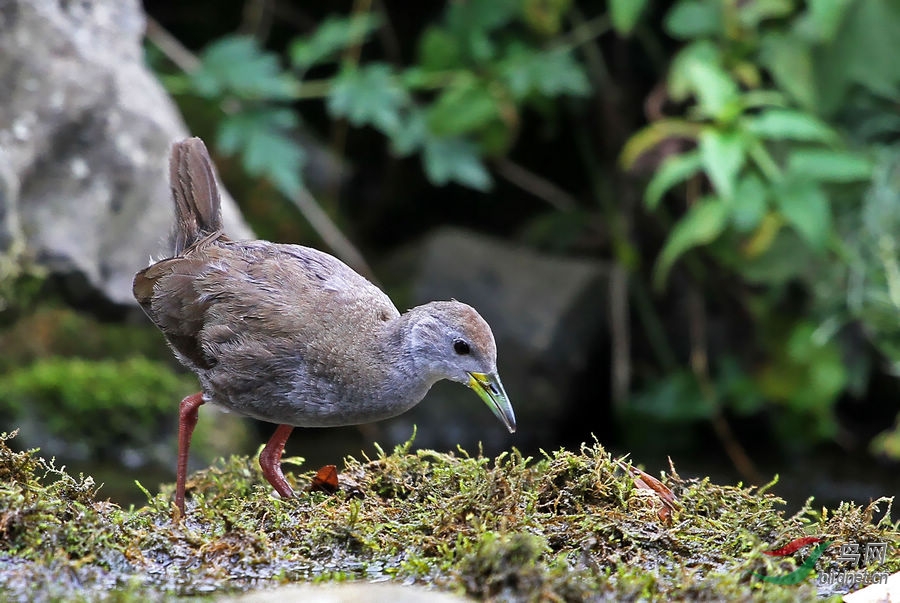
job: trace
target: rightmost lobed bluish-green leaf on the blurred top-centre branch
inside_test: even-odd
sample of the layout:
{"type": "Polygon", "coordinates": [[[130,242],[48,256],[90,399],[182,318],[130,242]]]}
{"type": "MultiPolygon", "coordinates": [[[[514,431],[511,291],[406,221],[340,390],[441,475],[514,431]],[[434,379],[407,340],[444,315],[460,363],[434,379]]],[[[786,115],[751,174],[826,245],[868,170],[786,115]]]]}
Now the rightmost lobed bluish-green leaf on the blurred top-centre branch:
{"type": "Polygon", "coordinates": [[[512,45],[499,65],[499,75],[516,100],[532,94],[555,98],[591,92],[584,67],[564,49],[535,51],[512,45]]]}

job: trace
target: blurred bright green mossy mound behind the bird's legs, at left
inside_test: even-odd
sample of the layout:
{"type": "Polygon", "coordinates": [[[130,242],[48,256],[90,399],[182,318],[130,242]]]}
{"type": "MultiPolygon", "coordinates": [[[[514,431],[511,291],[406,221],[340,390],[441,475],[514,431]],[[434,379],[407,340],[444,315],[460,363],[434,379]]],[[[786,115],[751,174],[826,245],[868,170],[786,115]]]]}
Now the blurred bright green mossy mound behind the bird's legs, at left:
{"type": "MultiPolygon", "coordinates": [[[[20,445],[49,441],[54,454],[70,460],[106,463],[117,471],[152,463],[168,469],[178,401],[197,388],[195,377],[140,356],[54,356],[0,374],[0,420],[22,426],[20,445]]],[[[248,424],[225,413],[210,415],[197,428],[195,458],[208,462],[223,450],[243,449],[248,424]]]]}

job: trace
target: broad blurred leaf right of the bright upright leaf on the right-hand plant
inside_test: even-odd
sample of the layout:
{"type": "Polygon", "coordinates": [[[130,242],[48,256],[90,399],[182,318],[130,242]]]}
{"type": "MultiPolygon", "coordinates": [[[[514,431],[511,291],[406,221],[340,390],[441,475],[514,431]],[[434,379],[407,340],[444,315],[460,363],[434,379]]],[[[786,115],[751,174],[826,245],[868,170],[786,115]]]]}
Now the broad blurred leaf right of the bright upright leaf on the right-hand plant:
{"type": "Polygon", "coordinates": [[[778,87],[791,95],[804,109],[817,109],[812,52],[800,38],[770,33],[760,43],[760,61],[772,74],[778,87]]]}

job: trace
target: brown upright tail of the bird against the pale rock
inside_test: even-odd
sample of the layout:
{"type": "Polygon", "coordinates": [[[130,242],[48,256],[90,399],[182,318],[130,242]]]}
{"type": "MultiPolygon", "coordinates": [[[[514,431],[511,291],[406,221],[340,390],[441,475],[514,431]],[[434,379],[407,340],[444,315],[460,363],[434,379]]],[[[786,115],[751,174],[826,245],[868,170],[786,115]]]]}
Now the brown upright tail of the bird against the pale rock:
{"type": "Polygon", "coordinates": [[[172,145],[169,185],[175,200],[175,255],[214,232],[222,230],[219,187],[206,145],[186,138],[172,145]]]}

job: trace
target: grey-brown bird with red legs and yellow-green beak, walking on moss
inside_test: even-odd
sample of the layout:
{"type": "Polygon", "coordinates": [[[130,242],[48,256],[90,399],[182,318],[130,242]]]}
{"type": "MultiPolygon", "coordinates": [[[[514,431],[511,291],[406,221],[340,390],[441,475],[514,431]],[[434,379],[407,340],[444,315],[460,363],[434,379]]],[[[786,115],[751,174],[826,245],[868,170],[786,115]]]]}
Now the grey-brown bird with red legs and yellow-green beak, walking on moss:
{"type": "Polygon", "coordinates": [[[388,419],[442,379],[470,387],[515,432],[494,335],[474,308],[433,301],[401,314],[378,287],[325,252],[232,240],[200,138],[172,145],[169,179],[172,255],[138,271],[133,293],[201,386],[179,406],[178,517],[185,516],[191,435],[205,403],[277,425],[259,465],[283,498],[293,496],[281,456],[295,427],[388,419]]]}

